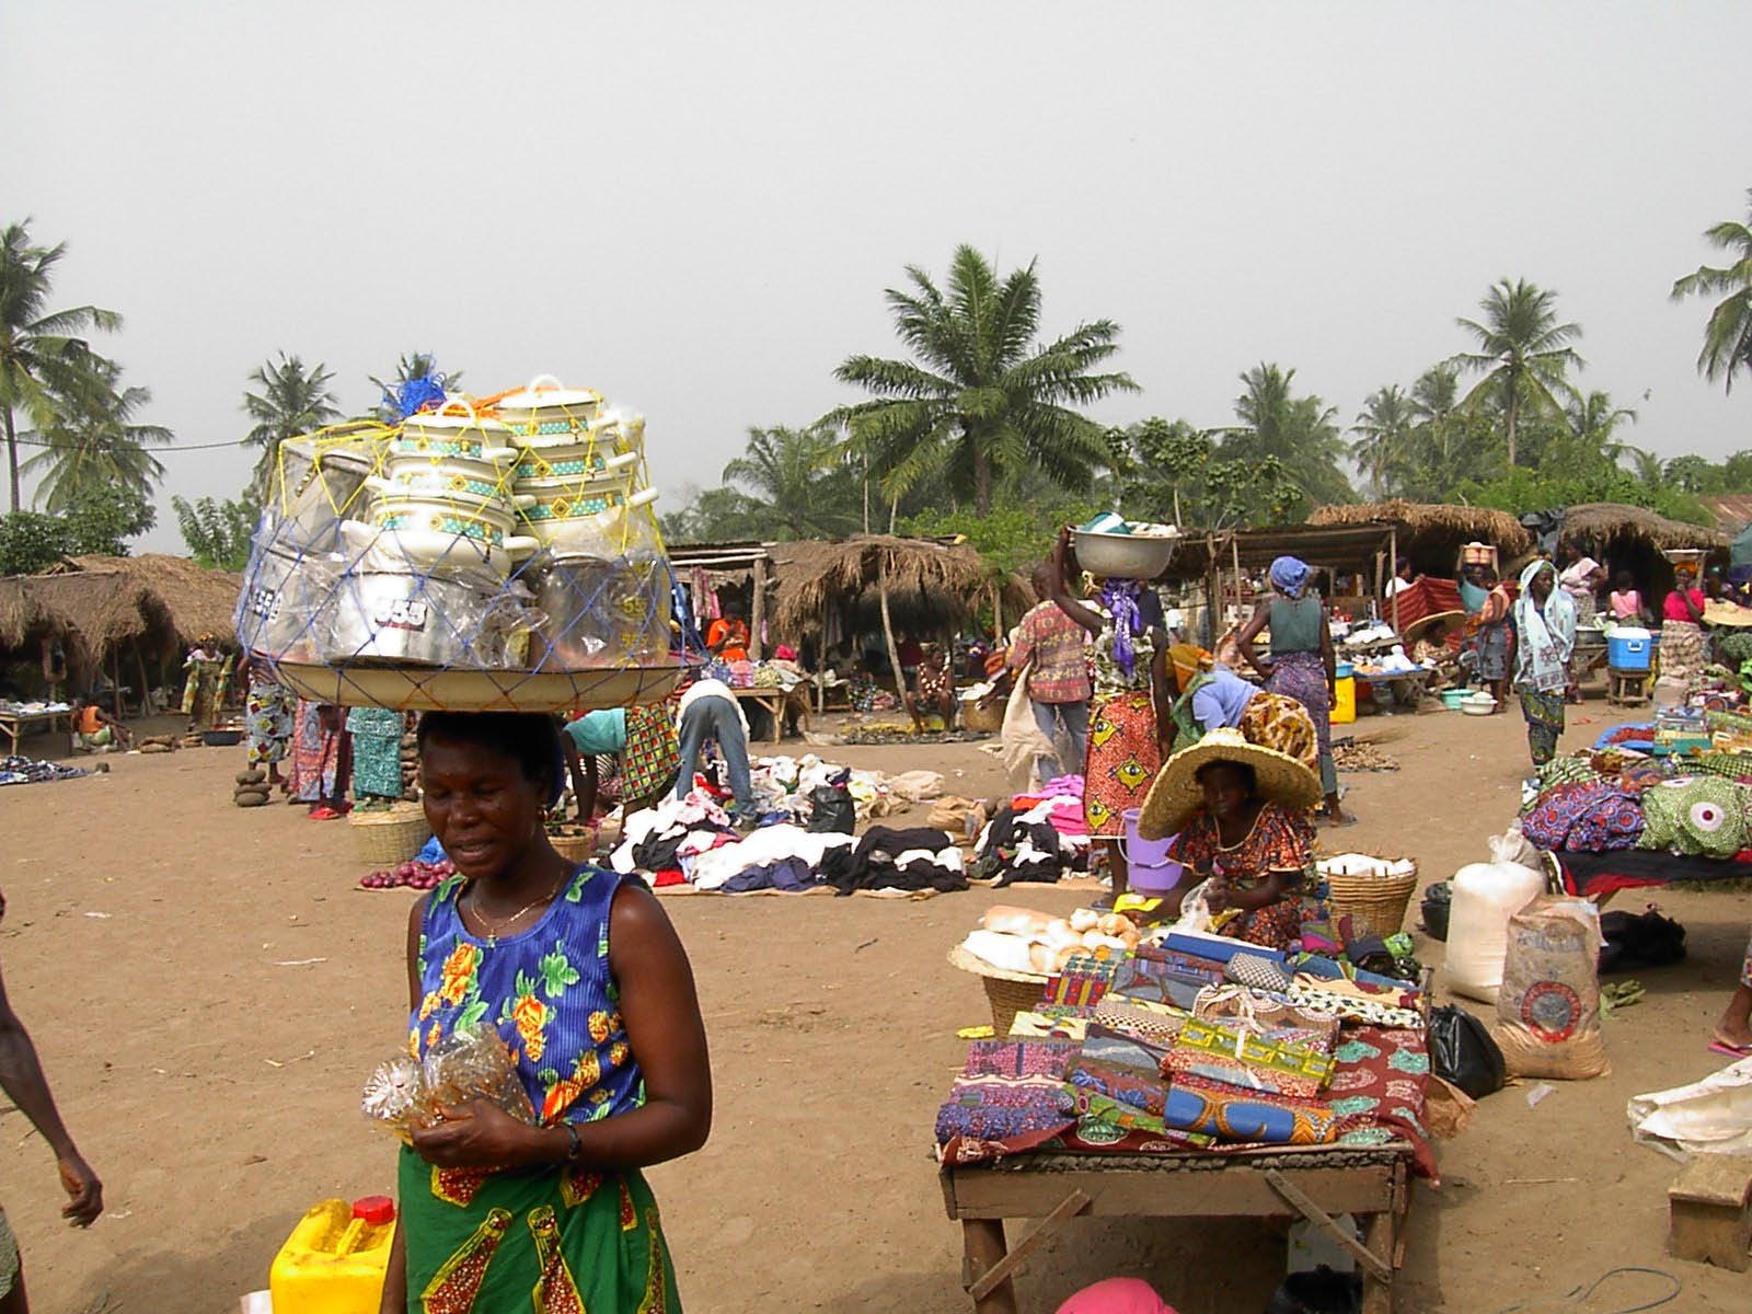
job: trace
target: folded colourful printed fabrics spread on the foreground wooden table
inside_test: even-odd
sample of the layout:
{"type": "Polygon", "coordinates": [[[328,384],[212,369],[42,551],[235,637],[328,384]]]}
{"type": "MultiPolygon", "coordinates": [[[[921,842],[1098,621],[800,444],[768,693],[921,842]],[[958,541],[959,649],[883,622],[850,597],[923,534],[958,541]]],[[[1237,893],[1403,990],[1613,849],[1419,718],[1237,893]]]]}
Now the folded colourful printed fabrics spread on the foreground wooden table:
{"type": "MultiPolygon", "coordinates": [[[[1107,936],[1102,916],[1072,915],[1099,946],[1063,957],[1009,1035],[972,1042],[937,1113],[943,1162],[1407,1142],[1437,1176],[1426,1106],[1452,1095],[1431,1088],[1412,983],[1218,936],[1107,936]]],[[[974,932],[993,934],[1020,937],[974,932]]]]}

